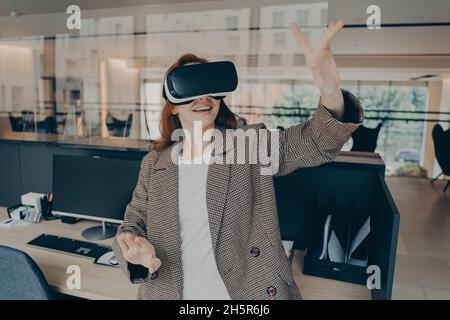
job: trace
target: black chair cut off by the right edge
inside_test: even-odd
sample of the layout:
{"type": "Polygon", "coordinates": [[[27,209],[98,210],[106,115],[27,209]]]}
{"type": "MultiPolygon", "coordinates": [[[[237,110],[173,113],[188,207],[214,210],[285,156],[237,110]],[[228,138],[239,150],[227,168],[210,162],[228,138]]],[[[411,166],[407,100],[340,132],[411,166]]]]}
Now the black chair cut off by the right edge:
{"type": "MultiPolygon", "coordinates": [[[[450,129],[444,131],[442,126],[438,123],[433,127],[432,131],[434,142],[434,154],[442,172],[438,174],[431,183],[434,183],[441,175],[450,176],[450,129]]],[[[443,192],[447,190],[450,181],[444,187],[443,192]]]]}

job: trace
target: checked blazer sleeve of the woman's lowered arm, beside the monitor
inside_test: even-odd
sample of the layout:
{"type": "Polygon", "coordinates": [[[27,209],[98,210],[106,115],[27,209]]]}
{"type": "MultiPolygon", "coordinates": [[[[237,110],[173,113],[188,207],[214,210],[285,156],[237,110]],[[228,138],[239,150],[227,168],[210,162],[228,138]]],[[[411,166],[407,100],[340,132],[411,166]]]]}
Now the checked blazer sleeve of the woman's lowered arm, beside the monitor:
{"type": "MultiPolygon", "coordinates": [[[[146,238],[146,209],[148,200],[148,182],[151,170],[150,154],[147,154],[141,161],[141,169],[138,181],[133,191],[133,196],[125,210],[123,223],[119,226],[117,235],[123,232],[130,232],[136,236],[146,238]]],[[[120,267],[132,283],[142,283],[149,276],[148,269],[141,265],[127,262],[120,249],[117,238],[113,242],[113,250],[120,267]]]]}

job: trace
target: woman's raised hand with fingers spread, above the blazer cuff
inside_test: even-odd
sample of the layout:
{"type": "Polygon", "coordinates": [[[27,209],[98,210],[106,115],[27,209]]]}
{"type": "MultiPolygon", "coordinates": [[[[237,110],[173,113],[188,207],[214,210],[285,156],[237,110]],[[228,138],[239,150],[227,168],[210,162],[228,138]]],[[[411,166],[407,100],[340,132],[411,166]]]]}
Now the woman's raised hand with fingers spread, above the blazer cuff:
{"type": "Polygon", "coordinates": [[[300,27],[291,23],[291,31],[300,47],[303,49],[306,65],[312,72],[313,83],[319,88],[322,103],[340,117],[344,111],[344,98],[342,96],[341,79],[331,52],[330,44],[344,22],[339,20],[335,24],[330,22],[325,29],[316,47],[312,47],[306,40],[300,27]]]}

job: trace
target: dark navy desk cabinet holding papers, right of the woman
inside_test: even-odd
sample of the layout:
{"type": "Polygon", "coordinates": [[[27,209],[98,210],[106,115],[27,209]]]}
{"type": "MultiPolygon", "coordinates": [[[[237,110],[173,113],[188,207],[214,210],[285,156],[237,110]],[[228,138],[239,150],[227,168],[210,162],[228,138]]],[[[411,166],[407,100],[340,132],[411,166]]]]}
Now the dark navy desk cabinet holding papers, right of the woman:
{"type": "Polygon", "coordinates": [[[329,163],[276,177],[274,183],[282,237],[306,250],[305,274],[365,285],[372,274],[367,267],[376,266],[381,287],[371,290],[372,297],[391,298],[400,216],[385,184],[383,165],[329,163]],[[358,251],[367,258],[365,265],[321,256],[328,216],[345,254],[355,230],[370,217],[370,233],[358,251]]]}

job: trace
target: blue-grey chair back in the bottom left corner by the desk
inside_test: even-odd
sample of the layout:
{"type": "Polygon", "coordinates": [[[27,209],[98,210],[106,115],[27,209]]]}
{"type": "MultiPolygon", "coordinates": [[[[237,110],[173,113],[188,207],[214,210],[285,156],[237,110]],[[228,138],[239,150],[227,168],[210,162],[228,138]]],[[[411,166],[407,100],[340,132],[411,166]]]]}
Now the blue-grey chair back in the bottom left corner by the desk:
{"type": "Polygon", "coordinates": [[[0,300],[49,300],[51,292],[37,264],[25,252],[0,246],[0,300]]]}

